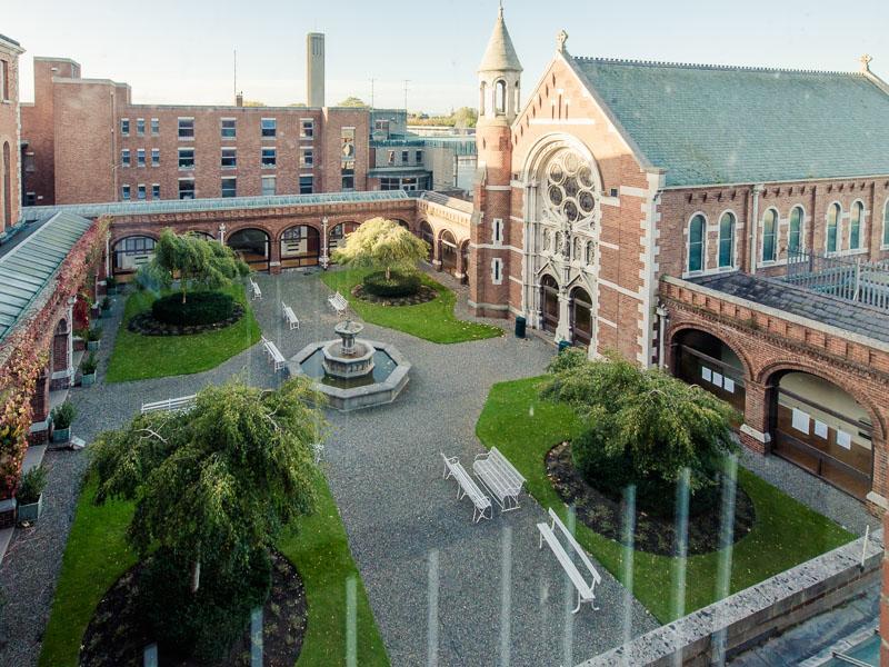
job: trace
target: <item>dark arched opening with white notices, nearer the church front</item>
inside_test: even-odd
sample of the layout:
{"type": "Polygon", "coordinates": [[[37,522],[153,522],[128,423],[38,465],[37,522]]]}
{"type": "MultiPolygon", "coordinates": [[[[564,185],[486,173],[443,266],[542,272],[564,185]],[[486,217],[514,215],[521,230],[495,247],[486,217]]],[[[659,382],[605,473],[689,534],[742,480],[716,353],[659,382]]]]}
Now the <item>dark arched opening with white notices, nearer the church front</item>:
{"type": "Polygon", "coordinates": [[[673,338],[672,351],[677,378],[707,389],[743,412],[743,364],[729,346],[707,331],[686,329],[673,338]]]}

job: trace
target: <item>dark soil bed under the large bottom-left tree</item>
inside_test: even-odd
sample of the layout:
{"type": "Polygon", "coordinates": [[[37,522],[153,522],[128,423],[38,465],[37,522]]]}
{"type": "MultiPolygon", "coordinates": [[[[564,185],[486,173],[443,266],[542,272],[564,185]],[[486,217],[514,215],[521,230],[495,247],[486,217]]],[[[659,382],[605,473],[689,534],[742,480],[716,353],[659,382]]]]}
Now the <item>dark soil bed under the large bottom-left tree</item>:
{"type": "MultiPolygon", "coordinates": [[[[308,606],[302,579],[293,565],[277,552],[271,554],[271,594],[262,609],[262,651],[264,665],[293,665],[302,648],[308,606]]],[[[80,649],[82,667],[141,665],[144,647],[153,643],[144,619],[138,611],[139,568],[126,573],[108,590],[83,635],[80,649]]],[[[197,663],[163,656],[162,664],[192,667],[197,663]]],[[[222,667],[250,664],[250,628],[218,663],[222,667]]]]}

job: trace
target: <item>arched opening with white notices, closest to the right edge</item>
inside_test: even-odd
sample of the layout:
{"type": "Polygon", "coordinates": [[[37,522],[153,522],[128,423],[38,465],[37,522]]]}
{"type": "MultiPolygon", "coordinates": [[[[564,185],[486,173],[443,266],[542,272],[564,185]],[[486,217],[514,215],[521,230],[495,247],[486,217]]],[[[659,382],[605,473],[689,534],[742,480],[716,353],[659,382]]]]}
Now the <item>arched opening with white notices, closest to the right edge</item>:
{"type": "Polygon", "coordinates": [[[859,499],[873,477],[873,427],[847,391],[809,372],[773,375],[772,451],[859,499]]]}

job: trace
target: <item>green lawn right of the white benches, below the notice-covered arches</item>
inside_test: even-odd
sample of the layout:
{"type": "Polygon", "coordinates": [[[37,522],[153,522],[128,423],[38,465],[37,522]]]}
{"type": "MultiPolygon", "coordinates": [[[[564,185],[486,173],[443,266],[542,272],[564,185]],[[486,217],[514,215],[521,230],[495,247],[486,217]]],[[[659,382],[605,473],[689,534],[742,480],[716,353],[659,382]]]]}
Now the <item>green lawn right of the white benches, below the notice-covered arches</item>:
{"type": "MultiPolygon", "coordinates": [[[[550,447],[571,438],[580,422],[561,405],[541,401],[537,386],[542,378],[495,385],[476,426],[487,447],[496,446],[528,479],[528,490],[543,507],[566,507],[546,475],[543,456],[550,447]]],[[[839,547],[855,536],[833,521],[793,500],[752,472],[740,468],[738,480],[753,500],[757,521],[731,552],[731,593],[742,590],[795,565],[839,547]]],[[[618,579],[623,576],[623,548],[586,526],[578,526],[579,541],[618,579]]],[[[686,559],[685,613],[717,599],[717,571],[722,552],[686,559]]],[[[658,620],[675,619],[672,581],[679,559],[636,552],[633,594],[658,620]]]]}

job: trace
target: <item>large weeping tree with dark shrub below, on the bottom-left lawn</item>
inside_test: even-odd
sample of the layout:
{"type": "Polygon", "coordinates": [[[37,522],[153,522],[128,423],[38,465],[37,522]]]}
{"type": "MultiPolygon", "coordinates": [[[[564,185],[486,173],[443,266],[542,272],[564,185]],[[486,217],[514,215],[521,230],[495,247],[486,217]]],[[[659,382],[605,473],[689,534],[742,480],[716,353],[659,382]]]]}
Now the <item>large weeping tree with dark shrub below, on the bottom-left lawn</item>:
{"type": "Polygon", "coordinates": [[[91,449],[96,502],[134,501],[140,614],[170,650],[216,659],[268,597],[269,551],[316,504],[326,422],[304,378],[208,387],[187,412],[141,415],[91,449]]]}

